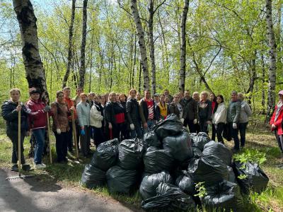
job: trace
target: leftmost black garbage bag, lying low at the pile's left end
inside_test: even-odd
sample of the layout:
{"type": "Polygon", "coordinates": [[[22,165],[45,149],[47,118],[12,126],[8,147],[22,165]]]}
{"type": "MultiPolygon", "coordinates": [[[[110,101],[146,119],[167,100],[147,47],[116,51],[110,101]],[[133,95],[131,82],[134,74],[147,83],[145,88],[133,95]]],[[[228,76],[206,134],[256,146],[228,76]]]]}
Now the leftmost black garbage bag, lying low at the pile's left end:
{"type": "Polygon", "coordinates": [[[83,174],[81,175],[81,184],[88,189],[101,187],[106,182],[106,172],[98,169],[97,167],[87,164],[84,167],[83,174]]]}

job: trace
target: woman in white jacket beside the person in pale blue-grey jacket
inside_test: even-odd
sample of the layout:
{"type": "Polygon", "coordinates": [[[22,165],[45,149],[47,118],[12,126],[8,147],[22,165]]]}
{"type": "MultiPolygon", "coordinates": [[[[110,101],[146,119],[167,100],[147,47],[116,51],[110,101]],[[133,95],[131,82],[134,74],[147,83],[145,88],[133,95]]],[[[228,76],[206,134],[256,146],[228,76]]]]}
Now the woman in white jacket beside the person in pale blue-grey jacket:
{"type": "Polygon", "coordinates": [[[91,127],[93,128],[93,139],[96,148],[105,141],[103,135],[103,107],[100,104],[101,97],[97,95],[91,107],[91,127]]]}

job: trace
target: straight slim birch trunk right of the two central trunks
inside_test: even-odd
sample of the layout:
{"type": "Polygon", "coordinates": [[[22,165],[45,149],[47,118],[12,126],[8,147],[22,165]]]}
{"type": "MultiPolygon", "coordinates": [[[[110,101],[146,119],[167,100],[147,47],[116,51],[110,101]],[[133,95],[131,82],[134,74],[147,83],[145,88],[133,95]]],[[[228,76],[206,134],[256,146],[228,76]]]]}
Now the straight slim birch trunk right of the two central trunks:
{"type": "Polygon", "coordinates": [[[185,5],[183,8],[182,13],[182,20],[181,20],[181,45],[180,45],[180,83],[179,83],[179,90],[184,92],[185,91],[185,68],[186,68],[186,36],[185,36],[185,25],[187,20],[187,11],[189,9],[189,0],[185,0],[185,5]]]}

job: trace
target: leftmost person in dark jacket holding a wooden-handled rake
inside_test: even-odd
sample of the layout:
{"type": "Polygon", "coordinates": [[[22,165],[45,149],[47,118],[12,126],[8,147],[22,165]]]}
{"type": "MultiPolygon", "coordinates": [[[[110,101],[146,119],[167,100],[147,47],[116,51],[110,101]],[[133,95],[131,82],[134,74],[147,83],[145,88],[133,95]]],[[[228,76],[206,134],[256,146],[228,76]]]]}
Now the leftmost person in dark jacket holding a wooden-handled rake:
{"type": "Polygon", "coordinates": [[[4,102],[1,115],[6,120],[6,134],[13,143],[12,171],[18,171],[18,112],[21,112],[21,164],[23,170],[30,170],[30,165],[25,164],[23,155],[23,140],[28,130],[28,114],[23,102],[19,103],[21,91],[18,88],[10,90],[11,99],[4,102]]]}

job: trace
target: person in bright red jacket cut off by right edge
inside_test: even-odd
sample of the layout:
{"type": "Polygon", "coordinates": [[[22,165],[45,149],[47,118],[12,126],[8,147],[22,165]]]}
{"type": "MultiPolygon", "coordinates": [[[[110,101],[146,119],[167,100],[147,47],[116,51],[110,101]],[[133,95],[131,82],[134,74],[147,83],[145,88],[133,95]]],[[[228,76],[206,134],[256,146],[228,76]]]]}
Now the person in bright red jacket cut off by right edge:
{"type": "MultiPolygon", "coordinates": [[[[278,146],[283,155],[283,131],[282,131],[282,119],[283,119],[283,90],[279,93],[279,102],[275,106],[275,112],[270,120],[272,131],[275,131],[275,136],[278,142],[278,146]]],[[[281,165],[283,167],[283,165],[281,165]]]]}

